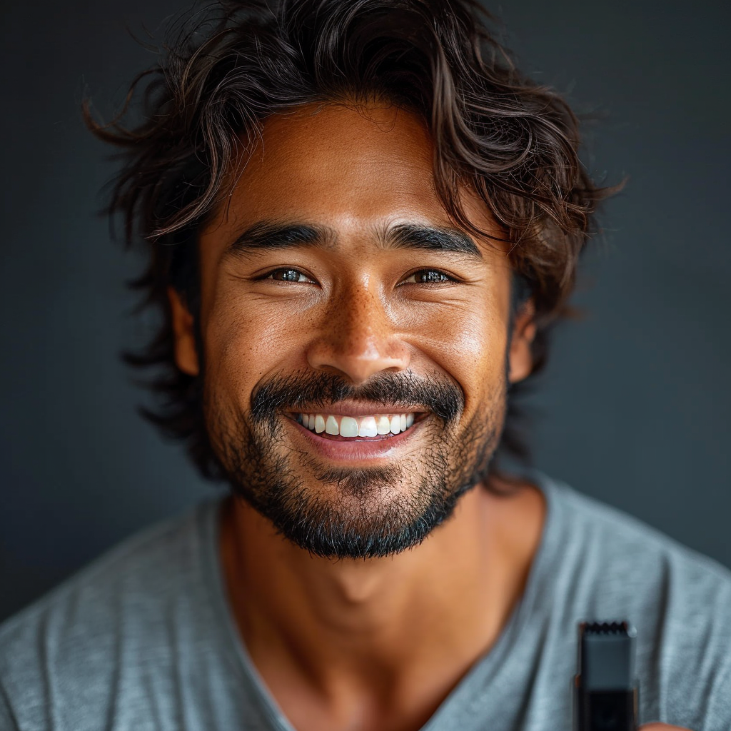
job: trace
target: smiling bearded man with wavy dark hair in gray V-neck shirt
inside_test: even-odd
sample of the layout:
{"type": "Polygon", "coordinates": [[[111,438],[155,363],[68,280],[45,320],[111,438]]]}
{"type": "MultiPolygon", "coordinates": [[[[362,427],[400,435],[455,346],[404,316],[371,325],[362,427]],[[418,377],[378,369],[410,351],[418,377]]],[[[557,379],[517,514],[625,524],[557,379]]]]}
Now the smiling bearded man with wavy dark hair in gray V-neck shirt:
{"type": "Polygon", "coordinates": [[[232,495],[4,625],[0,729],[565,729],[586,619],[641,721],[730,728],[728,572],[498,461],[602,197],[568,107],[466,0],[224,10],[90,124],[151,418],[232,495]]]}

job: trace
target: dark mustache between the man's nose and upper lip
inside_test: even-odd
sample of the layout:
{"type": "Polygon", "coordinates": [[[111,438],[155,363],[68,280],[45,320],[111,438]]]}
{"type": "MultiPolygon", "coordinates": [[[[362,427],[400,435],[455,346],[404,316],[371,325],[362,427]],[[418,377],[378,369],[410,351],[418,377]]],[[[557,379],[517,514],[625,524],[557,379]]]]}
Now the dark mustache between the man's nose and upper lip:
{"type": "Polygon", "coordinates": [[[411,371],[384,372],[354,386],[335,374],[298,373],[273,376],[251,394],[251,418],[272,420],[282,411],[325,411],[338,401],[363,401],[408,411],[424,407],[445,424],[464,409],[462,389],[448,379],[424,379],[411,371]]]}

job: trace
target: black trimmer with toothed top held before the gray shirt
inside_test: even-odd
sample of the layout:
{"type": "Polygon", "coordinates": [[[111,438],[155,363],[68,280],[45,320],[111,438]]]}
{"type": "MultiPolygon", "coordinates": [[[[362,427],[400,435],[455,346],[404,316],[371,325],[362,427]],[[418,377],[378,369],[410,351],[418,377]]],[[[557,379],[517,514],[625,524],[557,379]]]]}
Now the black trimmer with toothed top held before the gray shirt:
{"type": "Polygon", "coordinates": [[[626,622],[579,625],[575,731],[637,731],[636,637],[626,622]]]}

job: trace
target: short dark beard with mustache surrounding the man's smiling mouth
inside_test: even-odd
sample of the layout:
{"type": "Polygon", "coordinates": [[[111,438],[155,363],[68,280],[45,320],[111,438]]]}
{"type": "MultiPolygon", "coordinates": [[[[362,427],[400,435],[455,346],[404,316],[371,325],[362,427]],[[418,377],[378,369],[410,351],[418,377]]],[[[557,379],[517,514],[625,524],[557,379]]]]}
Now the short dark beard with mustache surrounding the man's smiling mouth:
{"type": "Polygon", "coordinates": [[[316,556],[375,558],[423,542],[452,515],[459,497],[485,479],[504,421],[504,384],[491,401],[495,413],[475,416],[458,430],[464,395],[452,381],[383,373],[352,387],[337,376],[314,373],[270,379],[252,395],[249,419],[212,397],[206,398],[205,414],[232,491],[280,534],[316,556]],[[327,411],[346,398],[398,404],[397,412],[431,412],[431,423],[422,428],[431,431],[433,447],[398,465],[356,469],[327,469],[306,452],[281,449],[281,414],[327,411]],[[297,476],[303,471],[323,490],[306,487],[297,476]],[[404,482],[414,485],[399,491],[404,482]]]}

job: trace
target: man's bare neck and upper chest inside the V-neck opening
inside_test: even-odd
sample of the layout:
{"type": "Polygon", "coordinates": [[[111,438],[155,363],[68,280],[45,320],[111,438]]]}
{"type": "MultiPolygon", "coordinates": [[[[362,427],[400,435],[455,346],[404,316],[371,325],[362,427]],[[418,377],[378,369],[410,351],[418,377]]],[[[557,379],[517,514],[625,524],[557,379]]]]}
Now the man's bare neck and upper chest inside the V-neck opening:
{"type": "MultiPolygon", "coordinates": [[[[221,556],[249,655],[285,711],[281,696],[298,678],[314,694],[351,698],[350,708],[356,699],[391,707],[420,695],[438,705],[520,599],[543,512],[529,485],[510,496],[478,487],[415,548],[331,560],[297,548],[232,499],[221,556]]],[[[431,711],[423,709],[426,718],[431,711]]]]}

